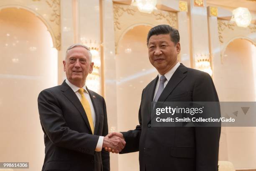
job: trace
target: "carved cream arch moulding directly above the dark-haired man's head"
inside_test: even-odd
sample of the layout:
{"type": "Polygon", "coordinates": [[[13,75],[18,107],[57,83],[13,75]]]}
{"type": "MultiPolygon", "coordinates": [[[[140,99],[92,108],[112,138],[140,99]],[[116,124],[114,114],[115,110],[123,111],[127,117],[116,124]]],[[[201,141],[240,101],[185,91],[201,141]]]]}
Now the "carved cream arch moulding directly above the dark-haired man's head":
{"type": "Polygon", "coordinates": [[[141,13],[135,6],[113,4],[114,29],[115,29],[115,52],[118,53],[118,43],[125,33],[136,26],[157,26],[168,24],[177,28],[177,13],[154,10],[151,14],[141,13]]]}

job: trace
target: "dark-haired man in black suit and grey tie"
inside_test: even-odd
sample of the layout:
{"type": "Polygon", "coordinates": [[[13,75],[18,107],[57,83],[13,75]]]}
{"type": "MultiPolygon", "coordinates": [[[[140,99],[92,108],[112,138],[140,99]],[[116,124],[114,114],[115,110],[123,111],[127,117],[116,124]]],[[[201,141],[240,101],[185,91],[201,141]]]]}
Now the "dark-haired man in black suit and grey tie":
{"type": "Polygon", "coordinates": [[[151,126],[151,102],[218,102],[212,78],[177,61],[181,48],[176,29],[151,28],[147,45],[149,61],[159,74],[143,89],[140,125],[109,136],[126,141],[121,153],[139,151],[140,171],[217,171],[220,127],[151,126]]]}

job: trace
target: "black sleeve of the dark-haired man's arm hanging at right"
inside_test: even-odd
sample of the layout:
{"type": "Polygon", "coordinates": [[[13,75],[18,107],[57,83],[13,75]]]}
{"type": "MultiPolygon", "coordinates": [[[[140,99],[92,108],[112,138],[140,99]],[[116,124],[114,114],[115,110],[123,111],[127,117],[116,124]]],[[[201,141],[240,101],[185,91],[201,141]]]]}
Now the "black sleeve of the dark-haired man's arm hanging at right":
{"type": "MultiPolygon", "coordinates": [[[[193,101],[219,102],[212,78],[202,73],[195,82],[193,101]]],[[[217,109],[215,117],[220,117],[217,109]]],[[[195,127],[196,171],[218,171],[220,127],[195,127]]]]}

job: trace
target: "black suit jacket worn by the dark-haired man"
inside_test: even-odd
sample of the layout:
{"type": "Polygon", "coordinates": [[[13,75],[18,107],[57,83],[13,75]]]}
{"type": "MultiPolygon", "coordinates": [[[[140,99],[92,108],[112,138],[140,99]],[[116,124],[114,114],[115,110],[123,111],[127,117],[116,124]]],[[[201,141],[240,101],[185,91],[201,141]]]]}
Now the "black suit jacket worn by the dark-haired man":
{"type": "MultiPolygon", "coordinates": [[[[217,171],[220,127],[151,127],[158,77],[142,92],[139,124],[123,133],[121,153],[139,151],[140,171],[217,171]]],[[[218,102],[209,74],[180,65],[158,102],[218,102]]]]}

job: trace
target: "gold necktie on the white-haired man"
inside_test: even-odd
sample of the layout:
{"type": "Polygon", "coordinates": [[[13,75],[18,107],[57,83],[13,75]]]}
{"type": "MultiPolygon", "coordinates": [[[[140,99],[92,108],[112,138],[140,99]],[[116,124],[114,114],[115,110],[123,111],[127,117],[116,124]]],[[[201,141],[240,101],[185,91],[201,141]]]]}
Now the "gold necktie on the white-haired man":
{"type": "Polygon", "coordinates": [[[90,127],[92,129],[92,134],[94,134],[94,125],[93,125],[93,121],[92,121],[92,112],[91,112],[91,107],[89,104],[89,101],[85,98],[84,96],[84,89],[79,89],[78,92],[81,94],[81,103],[82,106],[84,107],[85,113],[87,115],[87,118],[89,120],[90,123],[90,127]]]}

